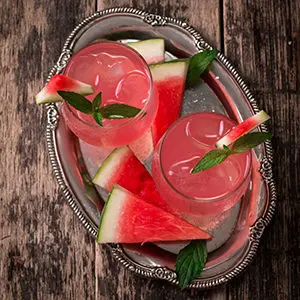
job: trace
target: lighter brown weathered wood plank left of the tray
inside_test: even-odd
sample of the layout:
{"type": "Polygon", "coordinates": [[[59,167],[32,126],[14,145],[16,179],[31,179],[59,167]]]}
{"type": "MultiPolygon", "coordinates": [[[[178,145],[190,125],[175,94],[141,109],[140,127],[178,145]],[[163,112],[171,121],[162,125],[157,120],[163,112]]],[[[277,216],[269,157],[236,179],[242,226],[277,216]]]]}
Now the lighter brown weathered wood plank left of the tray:
{"type": "Polygon", "coordinates": [[[91,299],[94,241],[64,200],[45,143],[42,87],[72,28],[94,1],[0,3],[0,295],[91,299]]]}

